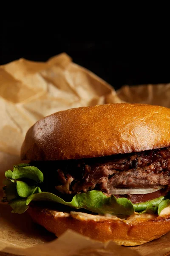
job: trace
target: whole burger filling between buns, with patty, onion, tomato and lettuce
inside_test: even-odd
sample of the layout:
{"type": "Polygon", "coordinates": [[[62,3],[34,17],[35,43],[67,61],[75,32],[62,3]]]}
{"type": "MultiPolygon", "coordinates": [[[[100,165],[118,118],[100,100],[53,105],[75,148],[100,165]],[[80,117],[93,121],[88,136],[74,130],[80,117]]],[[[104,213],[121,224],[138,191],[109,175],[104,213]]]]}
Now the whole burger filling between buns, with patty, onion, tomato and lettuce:
{"type": "Polygon", "coordinates": [[[6,172],[4,201],[14,212],[51,201],[92,213],[159,214],[169,207],[170,147],[81,160],[35,161],[6,172]]]}

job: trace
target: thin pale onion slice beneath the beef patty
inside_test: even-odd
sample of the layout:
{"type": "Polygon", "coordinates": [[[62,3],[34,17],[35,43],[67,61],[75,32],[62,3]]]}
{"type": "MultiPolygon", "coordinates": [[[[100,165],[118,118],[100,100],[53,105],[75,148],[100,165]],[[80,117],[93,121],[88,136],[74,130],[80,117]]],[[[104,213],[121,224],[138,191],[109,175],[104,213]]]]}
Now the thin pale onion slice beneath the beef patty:
{"type": "Polygon", "coordinates": [[[164,186],[157,186],[156,188],[142,188],[142,189],[110,189],[110,194],[126,195],[126,194],[149,194],[163,189],[164,186]]]}

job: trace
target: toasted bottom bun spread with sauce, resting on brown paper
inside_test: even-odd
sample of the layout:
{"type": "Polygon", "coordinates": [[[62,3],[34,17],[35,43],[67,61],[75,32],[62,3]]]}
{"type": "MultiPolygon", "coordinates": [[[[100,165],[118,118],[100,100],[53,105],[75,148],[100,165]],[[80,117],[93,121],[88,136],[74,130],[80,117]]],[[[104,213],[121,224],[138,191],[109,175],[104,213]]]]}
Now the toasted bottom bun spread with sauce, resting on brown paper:
{"type": "Polygon", "coordinates": [[[59,212],[32,205],[28,213],[33,221],[57,237],[70,229],[98,241],[112,240],[119,245],[144,244],[170,231],[170,216],[133,215],[127,219],[83,212],[59,212]]]}

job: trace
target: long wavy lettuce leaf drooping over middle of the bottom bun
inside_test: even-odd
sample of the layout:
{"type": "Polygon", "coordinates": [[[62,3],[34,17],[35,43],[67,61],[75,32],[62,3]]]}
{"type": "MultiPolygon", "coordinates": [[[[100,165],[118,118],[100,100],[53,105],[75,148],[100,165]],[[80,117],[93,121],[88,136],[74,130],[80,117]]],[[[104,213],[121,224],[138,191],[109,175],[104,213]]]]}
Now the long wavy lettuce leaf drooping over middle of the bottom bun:
{"type": "Polygon", "coordinates": [[[14,212],[23,213],[31,201],[51,201],[64,204],[75,209],[87,209],[98,214],[111,214],[117,216],[129,216],[134,212],[133,204],[127,198],[116,199],[114,195],[107,197],[101,191],[92,190],[86,193],[77,194],[71,202],[65,202],[62,198],[49,192],[41,192],[29,195],[23,203],[23,199],[12,201],[11,207],[14,212]],[[16,204],[16,205],[15,205],[16,204]]]}

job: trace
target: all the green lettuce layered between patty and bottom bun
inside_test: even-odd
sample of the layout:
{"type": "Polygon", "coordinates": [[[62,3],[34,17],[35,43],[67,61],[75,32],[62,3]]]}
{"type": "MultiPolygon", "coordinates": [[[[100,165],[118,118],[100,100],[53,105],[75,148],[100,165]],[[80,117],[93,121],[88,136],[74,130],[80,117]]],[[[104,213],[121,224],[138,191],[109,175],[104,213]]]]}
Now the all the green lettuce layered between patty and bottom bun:
{"type": "Polygon", "coordinates": [[[6,201],[13,209],[12,212],[23,213],[28,209],[31,201],[50,201],[57,204],[64,204],[75,209],[87,209],[97,214],[110,214],[119,217],[139,214],[144,212],[160,212],[167,204],[164,196],[144,203],[132,204],[127,198],[116,198],[104,195],[101,191],[92,190],[80,193],[72,198],[71,202],[66,202],[62,198],[50,192],[42,192],[40,189],[43,182],[43,174],[37,167],[29,164],[15,165],[13,171],[5,173],[5,195],[6,201]],[[160,205],[163,205],[160,207],[160,205]]]}

